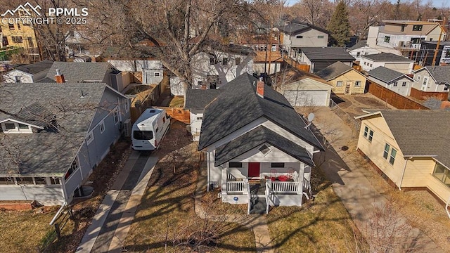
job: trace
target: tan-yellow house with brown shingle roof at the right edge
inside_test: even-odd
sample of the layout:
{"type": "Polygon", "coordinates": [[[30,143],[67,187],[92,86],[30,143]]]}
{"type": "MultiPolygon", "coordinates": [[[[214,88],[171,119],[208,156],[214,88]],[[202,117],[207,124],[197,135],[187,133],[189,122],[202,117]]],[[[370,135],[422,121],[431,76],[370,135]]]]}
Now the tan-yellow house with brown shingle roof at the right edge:
{"type": "Polygon", "coordinates": [[[361,119],[358,150],[400,190],[450,198],[450,111],[379,110],[361,119]]]}

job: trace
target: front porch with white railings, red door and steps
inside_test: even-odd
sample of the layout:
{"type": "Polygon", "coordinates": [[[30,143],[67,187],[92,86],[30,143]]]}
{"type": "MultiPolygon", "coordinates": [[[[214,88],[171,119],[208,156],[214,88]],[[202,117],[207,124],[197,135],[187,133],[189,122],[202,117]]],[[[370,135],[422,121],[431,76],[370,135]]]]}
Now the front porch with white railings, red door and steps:
{"type": "Polygon", "coordinates": [[[223,202],[248,204],[248,214],[261,214],[269,206],[301,206],[311,197],[310,175],[302,162],[229,162],[218,187],[223,202]]]}

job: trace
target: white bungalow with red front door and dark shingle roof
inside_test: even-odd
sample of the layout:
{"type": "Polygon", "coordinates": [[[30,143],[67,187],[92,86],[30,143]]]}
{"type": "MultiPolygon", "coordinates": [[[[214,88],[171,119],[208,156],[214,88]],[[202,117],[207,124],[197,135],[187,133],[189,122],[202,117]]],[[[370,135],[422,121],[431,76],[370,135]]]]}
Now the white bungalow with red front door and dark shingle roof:
{"type": "Polygon", "coordinates": [[[242,74],[205,108],[198,150],[207,157],[207,189],[262,214],[310,197],[312,155],[324,149],[281,93],[242,74]]]}

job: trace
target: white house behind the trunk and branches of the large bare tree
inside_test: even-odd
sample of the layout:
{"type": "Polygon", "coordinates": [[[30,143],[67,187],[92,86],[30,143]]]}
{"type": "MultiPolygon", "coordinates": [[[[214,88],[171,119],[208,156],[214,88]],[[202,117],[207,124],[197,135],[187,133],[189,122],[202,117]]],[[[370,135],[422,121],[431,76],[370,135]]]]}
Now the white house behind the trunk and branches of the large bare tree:
{"type": "MultiPolygon", "coordinates": [[[[213,44],[214,48],[197,53],[191,61],[192,89],[219,89],[240,74],[253,73],[252,48],[213,44]]],[[[186,88],[177,77],[170,78],[170,93],[185,96],[186,88]]]]}

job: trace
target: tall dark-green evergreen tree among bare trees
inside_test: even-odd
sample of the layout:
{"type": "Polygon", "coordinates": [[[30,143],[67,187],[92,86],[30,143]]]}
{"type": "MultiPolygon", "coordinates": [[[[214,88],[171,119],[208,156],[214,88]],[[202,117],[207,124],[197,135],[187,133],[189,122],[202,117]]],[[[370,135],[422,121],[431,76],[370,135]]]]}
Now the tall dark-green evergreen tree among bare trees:
{"type": "Polygon", "coordinates": [[[331,32],[330,44],[332,46],[344,46],[350,37],[349,12],[345,2],[340,0],[327,27],[331,32]]]}

